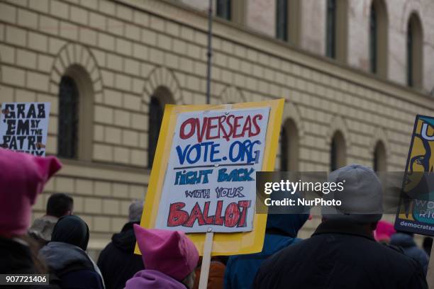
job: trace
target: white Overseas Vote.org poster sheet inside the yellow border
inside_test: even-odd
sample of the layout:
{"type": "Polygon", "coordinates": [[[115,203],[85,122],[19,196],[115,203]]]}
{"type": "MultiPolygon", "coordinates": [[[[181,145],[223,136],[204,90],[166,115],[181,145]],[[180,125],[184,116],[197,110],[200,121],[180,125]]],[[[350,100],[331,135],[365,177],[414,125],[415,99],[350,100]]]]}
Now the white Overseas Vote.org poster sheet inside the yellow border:
{"type": "Polygon", "coordinates": [[[248,232],[269,107],[179,113],[156,227],[248,232]]]}

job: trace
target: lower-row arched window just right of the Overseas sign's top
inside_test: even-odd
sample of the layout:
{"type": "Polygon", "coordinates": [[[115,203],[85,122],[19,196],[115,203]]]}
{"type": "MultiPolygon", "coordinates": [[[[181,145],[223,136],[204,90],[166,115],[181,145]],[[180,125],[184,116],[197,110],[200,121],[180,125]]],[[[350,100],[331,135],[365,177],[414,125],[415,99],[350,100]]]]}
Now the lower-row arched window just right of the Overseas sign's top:
{"type": "Polygon", "coordinates": [[[280,135],[280,170],[299,170],[299,131],[293,120],[286,120],[280,135]]]}

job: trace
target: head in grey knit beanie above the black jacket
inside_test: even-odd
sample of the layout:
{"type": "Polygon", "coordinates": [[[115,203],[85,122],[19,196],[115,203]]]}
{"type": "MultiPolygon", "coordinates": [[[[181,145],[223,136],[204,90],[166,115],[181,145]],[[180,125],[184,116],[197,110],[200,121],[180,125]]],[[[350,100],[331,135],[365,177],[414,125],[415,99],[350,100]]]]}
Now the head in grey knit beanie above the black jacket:
{"type": "Polygon", "coordinates": [[[328,181],[343,183],[343,191],[328,195],[342,204],[323,208],[323,220],[350,222],[373,231],[383,211],[382,183],[377,174],[367,166],[351,164],[331,172],[328,181]]]}

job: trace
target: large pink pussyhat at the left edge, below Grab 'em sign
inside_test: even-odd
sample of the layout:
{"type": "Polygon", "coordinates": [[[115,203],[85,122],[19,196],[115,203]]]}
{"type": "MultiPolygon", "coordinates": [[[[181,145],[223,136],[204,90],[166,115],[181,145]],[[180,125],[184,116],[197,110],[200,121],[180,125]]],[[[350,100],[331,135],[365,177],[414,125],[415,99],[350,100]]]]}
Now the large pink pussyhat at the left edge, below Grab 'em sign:
{"type": "Polygon", "coordinates": [[[0,149],[0,235],[13,237],[26,234],[31,207],[45,183],[60,170],[56,157],[34,157],[31,154],[0,149]]]}

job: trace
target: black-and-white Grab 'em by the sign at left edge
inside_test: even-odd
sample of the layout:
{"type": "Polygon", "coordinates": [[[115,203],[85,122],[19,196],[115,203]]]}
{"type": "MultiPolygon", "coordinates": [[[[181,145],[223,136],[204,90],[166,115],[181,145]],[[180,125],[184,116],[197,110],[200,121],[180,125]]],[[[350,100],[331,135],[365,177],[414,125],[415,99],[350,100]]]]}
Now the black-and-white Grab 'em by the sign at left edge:
{"type": "Polygon", "coordinates": [[[0,147],[45,156],[50,103],[2,103],[0,147]]]}

